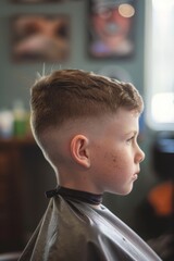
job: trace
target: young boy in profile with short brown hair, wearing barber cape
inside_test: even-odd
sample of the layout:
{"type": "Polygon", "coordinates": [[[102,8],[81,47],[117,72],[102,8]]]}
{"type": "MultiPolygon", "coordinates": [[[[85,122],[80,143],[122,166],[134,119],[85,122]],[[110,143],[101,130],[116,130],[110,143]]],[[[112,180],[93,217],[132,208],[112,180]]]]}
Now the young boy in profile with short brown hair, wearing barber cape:
{"type": "Polygon", "coordinates": [[[32,129],[59,186],[24,250],[30,261],[156,261],[160,258],[101,204],[127,195],[145,154],[137,145],[136,88],[79,70],[60,70],[32,89],[32,129]]]}

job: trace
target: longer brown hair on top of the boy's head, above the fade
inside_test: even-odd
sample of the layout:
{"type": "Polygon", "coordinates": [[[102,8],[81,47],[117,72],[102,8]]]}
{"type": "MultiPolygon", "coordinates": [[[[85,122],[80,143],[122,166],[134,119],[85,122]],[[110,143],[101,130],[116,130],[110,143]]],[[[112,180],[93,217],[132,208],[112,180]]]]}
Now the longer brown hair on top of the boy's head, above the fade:
{"type": "Polygon", "coordinates": [[[91,72],[54,71],[32,87],[32,127],[38,139],[49,127],[61,127],[69,120],[113,114],[119,108],[141,113],[144,103],[138,90],[129,83],[91,72]]]}

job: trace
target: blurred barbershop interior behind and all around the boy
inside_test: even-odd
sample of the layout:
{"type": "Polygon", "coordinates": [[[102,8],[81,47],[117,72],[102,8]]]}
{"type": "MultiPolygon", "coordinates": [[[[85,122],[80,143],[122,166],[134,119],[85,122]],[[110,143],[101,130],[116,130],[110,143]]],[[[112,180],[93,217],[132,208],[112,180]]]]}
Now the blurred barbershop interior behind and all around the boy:
{"type": "MultiPolygon", "coordinates": [[[[174,0],[1,0],[0,252],[21,251],[55,187],[29,127],[29,87],[58,69],[132,82],[142,95],[134,190],[104,204],[158,250],[174,232],[174,0]],[[166,236],[166,237],[165,237],[166,236]],[[161,241],[160,241],[161,244],[161,241]],[[157,246],[158,245],[158,246],[157,246]]],[[[174,245],[173,245],[174,246],[174,245]]],[[[169,251],[170,252],[170,251],[169,251]]],[[[172,260],[169,253],[159,253],[172,260]]],[[[173,259],[174,260],[174,259],[173,259]]]]}

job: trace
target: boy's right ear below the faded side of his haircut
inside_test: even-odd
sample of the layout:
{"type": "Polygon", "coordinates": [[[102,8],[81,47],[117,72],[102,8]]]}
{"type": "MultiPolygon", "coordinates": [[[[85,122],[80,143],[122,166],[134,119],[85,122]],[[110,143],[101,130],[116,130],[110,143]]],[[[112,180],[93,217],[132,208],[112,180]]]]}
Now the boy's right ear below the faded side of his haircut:
{"type": "Polygon", "coordinates": [[[84,167],[90,166],[89,140],[84,135],[76,135],[71,141],[71,153],[73,159],[84,167]]]}

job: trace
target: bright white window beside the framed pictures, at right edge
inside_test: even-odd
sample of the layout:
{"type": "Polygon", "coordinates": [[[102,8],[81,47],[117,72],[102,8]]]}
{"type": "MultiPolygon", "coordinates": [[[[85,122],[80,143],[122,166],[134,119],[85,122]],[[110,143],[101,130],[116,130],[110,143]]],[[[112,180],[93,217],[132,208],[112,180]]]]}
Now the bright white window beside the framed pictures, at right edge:
{"type": "Polygon", "coordinates": [[[149,0],[146,10],[147,123],[174,129],[174,0],[149,0]]]}

